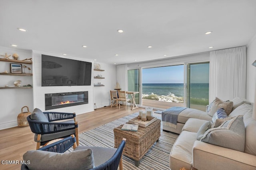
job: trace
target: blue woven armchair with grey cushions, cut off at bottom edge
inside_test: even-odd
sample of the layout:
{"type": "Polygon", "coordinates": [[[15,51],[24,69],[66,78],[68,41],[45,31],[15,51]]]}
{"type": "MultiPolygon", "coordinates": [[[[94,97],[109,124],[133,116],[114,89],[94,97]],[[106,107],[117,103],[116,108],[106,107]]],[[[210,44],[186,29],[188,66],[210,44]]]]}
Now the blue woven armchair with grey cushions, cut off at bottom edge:
{"type": "MultiPolygon", "coordinates": [[[[78,146],[77,147],[76,139],[75,139],[74,135],[71,135],[70,137],[67,137],[65,139],[62,139],[61,141],[58,141],[58,142],[52,143],[50,145],[47,145],[45,147],[42,147],[38,150],[63,153],[72,146],[73,146],[74,150],[91,149],[93,152],[95,168],[91,168],[90,170],[117,170],[118,166],[119,166],[119,170],[123,170],[122,153],[123,153],[125,143],[126,143],[126,139],[123,139],[117,149],[105,148],[105,147],[88,147],[88,146],[78,146]],[[103,163],[97,164],[97,162],[99,162],[98,160],[103,161],[103,163]]],[[[23,158],[24,158],[24,156],[23,156],[23,158]]],[[[51,161],[51,157],[49,157],[49,162],[50,161],[51,161]]],[[[76,161],[76,160],[66,160],[66,161],[76,161]]],[[[36,158],[34,158],[34,160],[30,160],[30,162],[31,163],[32,162],[40,162],[40,160],[37,160],[36,158]]],[[[40,168],[41,169],[42,168],[49,169],[49,167],[38,167],[38,168],[39,169],[40,168]]],[[[21,170],[29,170],[29,168],[26,164],[22,164],[21,170]]],[[[72,170],[72,168],[70,168],[70,170],[72,170]]]]}

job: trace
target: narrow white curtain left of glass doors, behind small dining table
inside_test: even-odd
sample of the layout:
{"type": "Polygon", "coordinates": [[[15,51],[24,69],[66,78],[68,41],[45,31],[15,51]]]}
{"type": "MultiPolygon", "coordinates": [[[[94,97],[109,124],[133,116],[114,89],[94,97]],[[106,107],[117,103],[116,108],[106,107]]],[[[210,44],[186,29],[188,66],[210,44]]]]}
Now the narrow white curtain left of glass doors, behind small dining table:
{"type": "Polygon", "coordinates": [[[127,64],[117,65],[116,66],[116,82],[119,83],[122,91],[127,91],[127,64]]]}

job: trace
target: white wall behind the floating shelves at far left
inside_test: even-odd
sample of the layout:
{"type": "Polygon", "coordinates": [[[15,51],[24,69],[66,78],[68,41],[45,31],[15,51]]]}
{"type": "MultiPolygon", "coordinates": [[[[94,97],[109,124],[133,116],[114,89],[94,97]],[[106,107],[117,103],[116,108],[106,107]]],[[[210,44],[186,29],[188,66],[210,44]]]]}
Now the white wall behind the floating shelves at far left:
{"type": "MultiPolygon", "coordinates": [[[[5,55],[5,53],[8,55],[17,53],[19,60],[32,57],[32,51],[0,47],[0,55],[5,55]]],[[[13,59],[12,56],[10,59],[13,59]]],[[[31,64],[22,65],[32,68],[31,64]]],[[[10,73],[10,62],[0,62],[0,72],[4,72],[5,70],[10,73]]],[[[13,83],[16,80],[22,80],[21,86],[32,84],[33,82],[32,76],[0,75],[0,87],[4,87],[6,84],[14,86],[13,83]]],[[[24,106],[28,106],[30,112],[33,111],[33,89],[0,89],[0,129],[17,126],[17,116],[21,113],[21,108],[24,106]]],[[[23,111],[27,111],[27,109],[24,108],[23,111]]]]}

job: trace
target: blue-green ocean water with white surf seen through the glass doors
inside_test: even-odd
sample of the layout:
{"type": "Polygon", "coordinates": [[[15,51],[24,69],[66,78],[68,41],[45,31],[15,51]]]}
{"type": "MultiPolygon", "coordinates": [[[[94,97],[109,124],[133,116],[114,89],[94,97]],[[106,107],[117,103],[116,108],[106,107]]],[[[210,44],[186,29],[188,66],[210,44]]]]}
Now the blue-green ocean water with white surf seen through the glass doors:
{"type": "MultiPolygon", "coordinates": [[[[167,102],[183,103],[183,83],[143,83],[142,98],[167,102]]],[[[209,83],[192,83],[190,85],[190,103],[208,104],[209,83]]]]}

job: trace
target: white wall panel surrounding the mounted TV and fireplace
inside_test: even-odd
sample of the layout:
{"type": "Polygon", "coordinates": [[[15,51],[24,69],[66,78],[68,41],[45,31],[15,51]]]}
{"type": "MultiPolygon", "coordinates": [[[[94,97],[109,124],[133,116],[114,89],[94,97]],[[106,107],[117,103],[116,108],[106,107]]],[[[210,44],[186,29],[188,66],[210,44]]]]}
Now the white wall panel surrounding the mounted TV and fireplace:
{"type": "MultiPolygon", "coordinates": [[[[75,112],[77,115],[82,113],[87,113],[94,110],[93,106],[93,84],[91,86],[50,86],[50,87],[42,87],[41,86],[41,56],[44,55],[50,55],[54,57],[62,57],[62,58],[68,58],[68,59],[74,59],[74,60],[80,60],[80,61],[87,61],[92,62],[90,60],[83,60],[82,58],[77,57],[63,57],[58,56],[56,54],[52,53],[44,53],[40,51],[33,51],[33,70],[34,70],[34,76],[33,76],[33,84],[34,84],[34,108],[39,108],[42,111],[45,111],[45,98],[44,94],[47,93],[62,93],[62,92],[80,92],[80,91],[88,91],[88,104],[78,105],[78,106],[70,106],[70,107],[63,107],[58,109],[52,109],[47,111],[59,111],[59,112],[67,112],[67,113],[73,113],[75,112]]],[[[93,62],[92,62],[93,64],[93,62]]]]}

